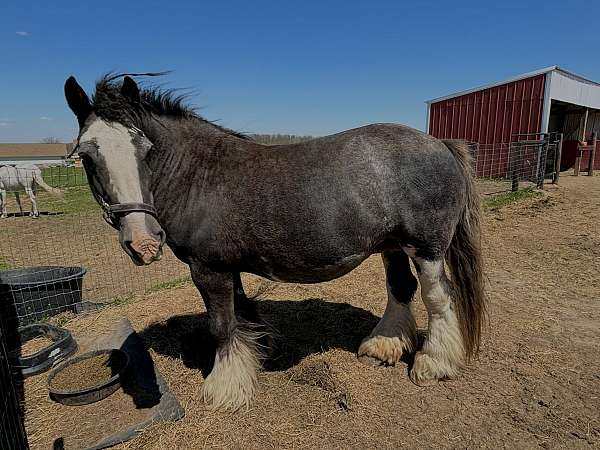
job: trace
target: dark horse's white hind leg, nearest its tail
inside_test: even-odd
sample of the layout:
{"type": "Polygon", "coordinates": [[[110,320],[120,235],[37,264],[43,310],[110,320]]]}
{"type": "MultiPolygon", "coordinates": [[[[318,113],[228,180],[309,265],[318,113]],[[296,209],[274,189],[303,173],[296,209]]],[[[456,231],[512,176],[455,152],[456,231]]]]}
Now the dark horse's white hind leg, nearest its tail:
{"type": "Polygon", "coordinates": [[[444,258],[433,260],[415,257],[421,282],[421,297],[429,316],[428,335],[415,355],[410,378],[416,384],[454,378],[464,365],[464,346],[452,288],[444,269],[444,258]]]}

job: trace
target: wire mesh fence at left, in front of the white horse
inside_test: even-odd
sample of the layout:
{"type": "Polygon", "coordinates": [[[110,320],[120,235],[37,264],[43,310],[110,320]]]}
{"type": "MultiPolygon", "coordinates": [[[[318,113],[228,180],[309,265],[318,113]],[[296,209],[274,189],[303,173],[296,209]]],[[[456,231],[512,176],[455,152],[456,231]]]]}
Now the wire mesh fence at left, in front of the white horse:
{"type": "Polygon", "coordinates": [[[21,325],[125,301],[188,275],[168,250],[151,266],[131,262],[102,219],[83,168],[38,167],[36,172],[26,164],[2,169],[0,308],[10,304],[21,325]]]}

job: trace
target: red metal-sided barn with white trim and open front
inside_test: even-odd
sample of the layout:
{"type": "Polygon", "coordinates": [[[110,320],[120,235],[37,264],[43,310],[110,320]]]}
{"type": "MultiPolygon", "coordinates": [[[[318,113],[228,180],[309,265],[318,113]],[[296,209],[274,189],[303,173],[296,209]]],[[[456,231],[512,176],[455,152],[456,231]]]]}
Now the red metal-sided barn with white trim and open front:
{"type": "MultiPolygon", "coordinates": [[[[589,144],[600,135],[600,83],[557,66],[426,103],[427,131],[437,138],[507,149],[512,142],[562,133],[561,170],[573,167],[578,155],[586,170],[589,158],[582,151],[592,155],[589,144]]],[[[503,151],[497,157],[508,159],[503,151]]],[[[505,175],[507,164],[491,175],[505,175]]],[[[600,168],[600,151],[594,168],[600,168]]]]}

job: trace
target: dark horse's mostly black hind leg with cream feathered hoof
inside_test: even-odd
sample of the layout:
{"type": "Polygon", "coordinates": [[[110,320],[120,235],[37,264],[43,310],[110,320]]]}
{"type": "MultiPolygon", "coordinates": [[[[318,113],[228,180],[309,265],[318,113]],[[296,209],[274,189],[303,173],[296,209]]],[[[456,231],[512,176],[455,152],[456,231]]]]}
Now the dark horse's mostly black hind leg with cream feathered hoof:
{"type": "Polygon", "coordinates": [[[383,317],[371,334],[363,340],[359,359],[368,364],[396,364],[404,353],[412,353],[417,345],[417,328],[411,301],[417,290],[417,279],[402,250],[382,253],[385,266],[388,302],[383,317]]]}

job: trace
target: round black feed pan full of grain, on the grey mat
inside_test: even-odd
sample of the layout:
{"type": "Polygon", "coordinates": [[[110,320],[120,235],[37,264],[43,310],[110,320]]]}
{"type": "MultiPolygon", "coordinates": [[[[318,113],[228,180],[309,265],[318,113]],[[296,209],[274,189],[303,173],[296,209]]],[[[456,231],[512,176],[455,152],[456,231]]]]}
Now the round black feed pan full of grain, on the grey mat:
{"type": "Polygon", "coordinates": [[[105,399],[121,387],[129,365],[122,350],[97,350],[71,358],[48,375],[50,398],[69,406],[105,399]]]}

